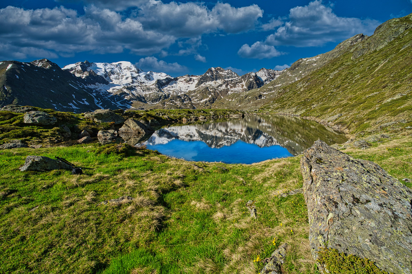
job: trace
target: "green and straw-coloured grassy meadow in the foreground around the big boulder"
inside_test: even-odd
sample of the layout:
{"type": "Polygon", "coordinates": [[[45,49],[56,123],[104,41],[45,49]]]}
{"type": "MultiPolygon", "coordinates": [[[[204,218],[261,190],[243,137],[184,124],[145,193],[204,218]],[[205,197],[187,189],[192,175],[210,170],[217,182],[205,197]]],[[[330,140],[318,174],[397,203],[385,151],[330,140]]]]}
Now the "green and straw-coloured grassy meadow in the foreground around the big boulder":
{"type": "MultiPolygon", "coordinates": [[[[411,178],[410,134],[343,151],[411,178]]],[[[283,273],[318,273],[303,195],[279,196],[302,187],[299,161],[189,162],[96,144],[2,150],[0,272],[252,274],[288,243],[283,273]],[[27,155],[63,157],[84,174],[21,172],[27,155]],[[121,196],[134,200],[99,205],[121,196]]]]}

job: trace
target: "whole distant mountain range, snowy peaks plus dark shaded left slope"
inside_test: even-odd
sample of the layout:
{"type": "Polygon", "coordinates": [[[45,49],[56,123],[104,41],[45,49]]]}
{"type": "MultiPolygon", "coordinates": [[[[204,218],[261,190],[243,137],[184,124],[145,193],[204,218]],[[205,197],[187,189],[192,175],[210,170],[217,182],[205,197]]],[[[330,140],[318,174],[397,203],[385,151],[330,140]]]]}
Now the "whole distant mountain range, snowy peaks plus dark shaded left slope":
{"type": "Polygon", "coordinates": [[[131,62],[85,61],[61,69],[47,59],[30,63],[3,61],[0,107],[20,104],[73,112],[98,108],[201,108],[228,94],[261,87],[281,73],[260,69],[239,76],[229,69],[212,67],[202,75],[172,77],[145,72],[131,62]]]}

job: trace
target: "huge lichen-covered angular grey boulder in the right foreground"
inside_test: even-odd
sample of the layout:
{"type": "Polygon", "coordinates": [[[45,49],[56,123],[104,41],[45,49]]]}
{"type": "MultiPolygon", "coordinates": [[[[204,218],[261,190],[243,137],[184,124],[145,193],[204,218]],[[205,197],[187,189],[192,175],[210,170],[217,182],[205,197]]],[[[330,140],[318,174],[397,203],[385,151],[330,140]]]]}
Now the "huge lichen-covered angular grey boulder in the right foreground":
{"type": "MultiPolygon", "coordinates": [[[[371,161],[321,140],[300,161],[314,259],[324,247],[368,258],[395,274],[412,272],[412,191],[371,161]]],[[[318,263],[323,273],[325,265],[318,263]]]]}

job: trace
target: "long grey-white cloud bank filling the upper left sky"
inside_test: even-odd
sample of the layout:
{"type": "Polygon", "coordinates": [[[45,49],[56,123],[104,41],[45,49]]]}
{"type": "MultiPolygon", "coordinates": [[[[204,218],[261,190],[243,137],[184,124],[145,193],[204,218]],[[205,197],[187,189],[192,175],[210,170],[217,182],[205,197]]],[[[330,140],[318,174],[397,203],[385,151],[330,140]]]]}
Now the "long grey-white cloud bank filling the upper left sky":
{"type": "MultiPolygon", "coordinates": [[[[220,2],[211,9],[202,2],[79,2],[87,4],[84,14],[63,6],[0,9],[0,57],[54,57],[82,51],[105,54],[125,50],[137,55],[165,56],[164,50],[179,39],[198,39],[213,32],[246,32],[255,28],[263,14],[257,5],[237,8],[220,2]],[[40,54],[40,50],[44,52],[40,54]]],[[[192,50],[182,54],[199,53],[192,50]]]]}

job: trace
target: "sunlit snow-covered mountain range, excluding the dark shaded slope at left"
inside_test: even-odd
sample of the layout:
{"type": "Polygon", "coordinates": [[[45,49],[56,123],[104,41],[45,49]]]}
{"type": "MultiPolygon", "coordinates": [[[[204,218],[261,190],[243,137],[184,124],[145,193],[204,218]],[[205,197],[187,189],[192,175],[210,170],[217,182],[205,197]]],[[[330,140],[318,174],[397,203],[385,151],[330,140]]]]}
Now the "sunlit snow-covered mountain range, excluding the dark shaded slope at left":
{"type": "Polygon", "coordinates": [[[173,78],[165,73],[145,72],[130,62],[88,61],[69,64],[63,70],[88,81],[94,90],[122,96],[145,108],[204,107],[227,94],[261,87],[282,72],[263,68],[239,76],[230,69],[212,67],[202,75],[173,78]]]}

